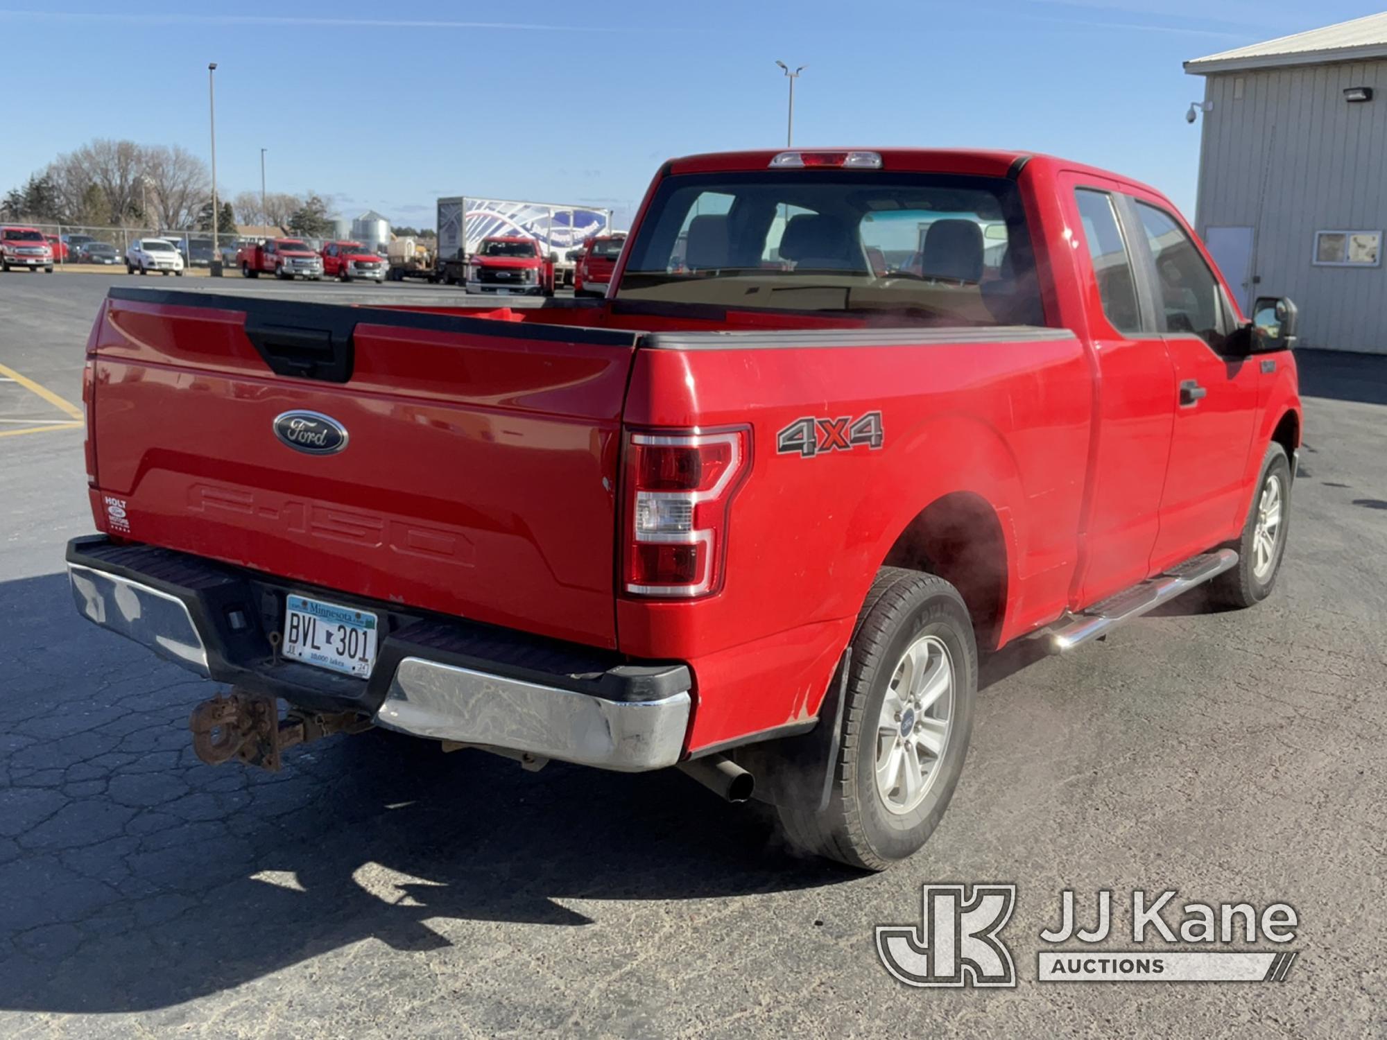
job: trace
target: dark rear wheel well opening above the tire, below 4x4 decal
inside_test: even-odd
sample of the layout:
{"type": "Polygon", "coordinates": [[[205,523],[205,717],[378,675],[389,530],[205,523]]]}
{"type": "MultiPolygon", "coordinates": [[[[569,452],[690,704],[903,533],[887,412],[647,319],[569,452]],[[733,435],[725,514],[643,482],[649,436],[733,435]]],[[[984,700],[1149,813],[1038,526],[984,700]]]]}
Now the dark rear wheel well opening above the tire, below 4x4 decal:
{"type": "Polygon", "coordinates": [[[985,498],[958,491],[932,502],[900,532],[882,566],[947,581],[968,605],[979,649],[997,646],[1007,602],[1007,544],[985,498]]]}

